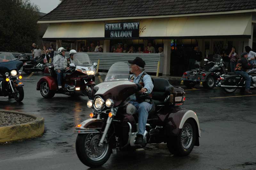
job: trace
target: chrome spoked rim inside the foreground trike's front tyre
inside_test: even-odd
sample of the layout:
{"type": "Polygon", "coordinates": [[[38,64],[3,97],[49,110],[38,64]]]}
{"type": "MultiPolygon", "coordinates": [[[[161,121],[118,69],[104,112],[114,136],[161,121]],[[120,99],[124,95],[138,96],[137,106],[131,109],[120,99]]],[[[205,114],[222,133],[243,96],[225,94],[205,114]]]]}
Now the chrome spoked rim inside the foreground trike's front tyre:
{"type": "Polygon", "coordinates": [[[86,155],[95,161],[103,159],[108,151],[108,143],[103,143],[102,146],[98,146],[100,142],[101,135],[95,135],[94,133],[88,134],[85,142],[84,148],[86,155]]]}

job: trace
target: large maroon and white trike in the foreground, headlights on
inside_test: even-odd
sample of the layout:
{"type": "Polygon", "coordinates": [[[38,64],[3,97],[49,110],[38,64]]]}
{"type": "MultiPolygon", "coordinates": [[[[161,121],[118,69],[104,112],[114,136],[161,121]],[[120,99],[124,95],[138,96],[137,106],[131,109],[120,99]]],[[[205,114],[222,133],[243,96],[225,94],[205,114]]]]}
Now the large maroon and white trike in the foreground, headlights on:
{"type": "MultiPolygon", "coordinates": [[[[134,144],[137,109],[129,103],[129,96],[138,92],[141,85],[128,81],[129,71],[123,62],[110,67],[105,81],[94,87],[94,99],[87,102],[92,108],[91,119],[76,126],[76,153],[86,166],[101,166],[111,153],[141,148],[134,144]]],[[[201,132],[196,113],[180,108],[185,101],[184,90],[157,78],[152,96],[153,108],[148,113],[143,146],[165,142],[172,154],[188,155],[194,145],[199,146],[201,132]]]]}

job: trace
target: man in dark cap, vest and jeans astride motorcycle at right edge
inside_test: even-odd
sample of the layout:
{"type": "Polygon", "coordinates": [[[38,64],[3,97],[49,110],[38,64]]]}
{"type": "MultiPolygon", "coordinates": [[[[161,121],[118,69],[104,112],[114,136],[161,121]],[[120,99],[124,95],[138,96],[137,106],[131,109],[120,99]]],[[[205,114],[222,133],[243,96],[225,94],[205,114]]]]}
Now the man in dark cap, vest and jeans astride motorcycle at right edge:
{"type": "Polygon", "coordinates": [[[235,70],[236,70],[236,73],[242,75],[245,78],[245,92],[248,94],[252,94],[250,90],[251,77],[246,72],[246,70],[252,68],[252,65],[248,63],[247,57],[248,57],[248,54],[246,52],[242,53],[241,59],[238,60],[235,70]]]}

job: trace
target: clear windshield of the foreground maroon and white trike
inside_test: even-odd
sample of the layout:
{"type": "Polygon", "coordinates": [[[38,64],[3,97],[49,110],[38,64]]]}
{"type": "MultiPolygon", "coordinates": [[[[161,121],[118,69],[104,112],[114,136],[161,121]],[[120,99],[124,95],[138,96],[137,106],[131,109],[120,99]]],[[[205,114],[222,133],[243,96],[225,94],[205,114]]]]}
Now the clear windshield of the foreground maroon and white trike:
{"type": "Polygon", "coordinates": [[[113,64],[105,78],[105,81],[118,81],[118,80],[128,80],[130,73],[130,67],[124,62],[117,62],[113,64]]]}

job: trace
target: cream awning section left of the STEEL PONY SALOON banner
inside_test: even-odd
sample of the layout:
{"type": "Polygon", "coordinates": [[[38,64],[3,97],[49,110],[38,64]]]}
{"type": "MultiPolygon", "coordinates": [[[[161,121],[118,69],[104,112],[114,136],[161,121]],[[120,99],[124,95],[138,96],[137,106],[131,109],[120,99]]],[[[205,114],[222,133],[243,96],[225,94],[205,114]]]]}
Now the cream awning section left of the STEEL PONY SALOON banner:
{"type": "Polygon", "coordinates": [[[81,22],[50,24],[44,33],[44,39],[103,38],[104,22],[81,22]]]}

